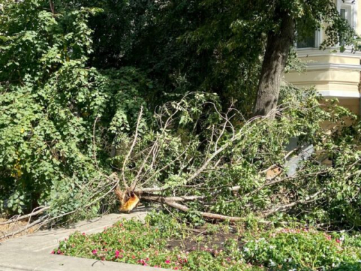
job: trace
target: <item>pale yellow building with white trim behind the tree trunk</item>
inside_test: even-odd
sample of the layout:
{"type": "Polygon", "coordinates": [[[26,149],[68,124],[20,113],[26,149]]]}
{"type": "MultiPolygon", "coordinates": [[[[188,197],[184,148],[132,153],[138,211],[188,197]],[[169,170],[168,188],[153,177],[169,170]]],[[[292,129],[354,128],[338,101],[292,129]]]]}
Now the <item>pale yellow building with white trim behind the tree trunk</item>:
{"type": "MultiPolygon", "coordinates": [[[[358,35],[361,35],[361,0],[335,0],[337,10],[347,19],[358,35]]],[[[339,104],[361,115],[360,72],[361,52],[351,48],[339,52],[338,47],[319,50],[325,39],[324,29],[314,36],[299,41],[297,54],[307,64],[303,73],[289,72],[285,80],[299,87],[314,86],[325,98],[337,98],[339,104]],[[335,52],[337,51],[337,52],[335,52]]]]}

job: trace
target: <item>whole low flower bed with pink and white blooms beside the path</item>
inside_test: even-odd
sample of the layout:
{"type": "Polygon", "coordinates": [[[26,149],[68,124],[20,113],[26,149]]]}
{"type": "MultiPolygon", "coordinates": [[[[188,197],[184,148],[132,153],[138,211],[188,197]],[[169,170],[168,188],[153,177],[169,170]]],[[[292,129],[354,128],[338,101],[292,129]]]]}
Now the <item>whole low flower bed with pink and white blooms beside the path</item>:
{"type": "Polygon", "coordinates": [[[102,233],[76,232],[53,254],[174,270],[361,270],[361,236],[313,229],[189,229],[162,213],[123,220],[102,233]]]}

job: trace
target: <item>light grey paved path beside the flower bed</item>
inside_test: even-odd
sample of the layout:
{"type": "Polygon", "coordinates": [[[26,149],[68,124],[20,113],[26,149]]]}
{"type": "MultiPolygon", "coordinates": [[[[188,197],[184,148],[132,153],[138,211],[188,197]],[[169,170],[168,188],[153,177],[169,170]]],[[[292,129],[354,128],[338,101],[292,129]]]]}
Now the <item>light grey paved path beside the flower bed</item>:
{"type": "Polygon", "coordinates": [[[105,227],[125,219],[144,220],[149,212],[145,208],[138,208],[130,214],[112,213],[94,220],[87,220],[72,224],[66,228],[47,229],[28,236],[6,240],[0,244],[0,271],[160,271],[162,268],[151,268],[142,265],[115,263],[111,261],[96,261],[89,258],[75,258],[50,254],[58,247],[60,240],[64,240],[75,231],[85,234],[99,233],[105,227]]]}

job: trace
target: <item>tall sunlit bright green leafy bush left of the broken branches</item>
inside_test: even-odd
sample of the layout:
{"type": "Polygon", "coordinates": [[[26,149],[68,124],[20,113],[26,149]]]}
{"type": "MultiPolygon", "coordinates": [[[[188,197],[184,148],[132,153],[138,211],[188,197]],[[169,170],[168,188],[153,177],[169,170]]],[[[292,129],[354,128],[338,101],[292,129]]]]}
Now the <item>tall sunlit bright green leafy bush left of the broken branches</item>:
{"type": "Polygon", "coordinates": [[[37,204],[66,213],[87,202],[84,184],[100,177],[93,141],[103,147],[101,161],[110,158],[112,142],[132,128],[151,89],[133,67],[86,66],[92,53],[87,20],[101,10],[54,15],[46,3],[10,1],[1,13],[0,197],[17,213],[37,204]]]}

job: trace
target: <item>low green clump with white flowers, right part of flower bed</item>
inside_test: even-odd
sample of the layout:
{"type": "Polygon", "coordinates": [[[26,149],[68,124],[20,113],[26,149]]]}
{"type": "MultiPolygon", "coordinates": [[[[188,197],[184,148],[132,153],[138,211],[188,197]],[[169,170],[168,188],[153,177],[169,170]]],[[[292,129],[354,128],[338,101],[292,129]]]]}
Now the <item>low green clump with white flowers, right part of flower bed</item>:
{"type": "Polygon", "coordinates": [[[350,265],[361,268],[361,251],[351,245],[360,238],[346,239],[308,229],[280,229],[249,238],[243,253],[247,262],[271,270],[331,270],[350,265]]]}

